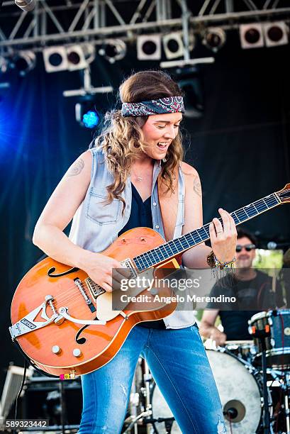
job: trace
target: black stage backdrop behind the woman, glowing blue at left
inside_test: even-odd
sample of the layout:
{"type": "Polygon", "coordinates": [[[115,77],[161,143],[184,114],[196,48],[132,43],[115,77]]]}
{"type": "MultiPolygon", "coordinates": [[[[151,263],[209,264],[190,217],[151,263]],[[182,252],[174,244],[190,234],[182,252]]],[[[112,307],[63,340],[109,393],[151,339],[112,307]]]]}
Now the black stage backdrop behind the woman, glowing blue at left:
{"type": "MultiPolygon", "coordinates": [[[[241,50],[233,33],[213,65],[201,69],[205,113],[185,119],[185,160],[198,169],[203,186],[204,222],[222,206],[233,211],[290,182],[289,45],[241,50]]],[[[203,53],[204,54],[204,53],[203,53]]],[[[211,55],[206,52],[206,55],[211,55]]],[[[135,49],[110,65],[98,58],[92,65],[94,86],[117,88],[135,71],[157,68],[137,62],[135,49]]],[[[41,57],[25,78],[4,77],[11,88],[1,91],[1,362],[0,386],[9,362],[22,364],[8,333],[13,291],[41,255],[33,246],[33,228],[52,190],[67,167],[87,149],[91,130],[74,121],[73,98],[65,89],[79,89],[79,72],[47,74],[41,57]]],[[[106,111],[114,95],[100,96],[106,111]]],[[[280,206],[247,223],[261,240],[290,240],[290,205],[280,206]]],[[[1,391],[1,387],[0,387],[1,391]]]]}

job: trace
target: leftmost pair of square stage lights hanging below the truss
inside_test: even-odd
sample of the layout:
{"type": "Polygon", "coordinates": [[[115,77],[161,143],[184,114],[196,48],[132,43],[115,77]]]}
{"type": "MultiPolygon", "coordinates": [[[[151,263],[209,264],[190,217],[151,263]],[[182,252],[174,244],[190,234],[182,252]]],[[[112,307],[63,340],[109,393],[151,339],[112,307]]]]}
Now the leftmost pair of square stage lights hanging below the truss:
{"type": "Polygon", "coordinates": [[[43,50],[46,72],[76,71],[85,69],[95,58],[95,47],[92,44],[74,44],[55,46],[43,50]]]}

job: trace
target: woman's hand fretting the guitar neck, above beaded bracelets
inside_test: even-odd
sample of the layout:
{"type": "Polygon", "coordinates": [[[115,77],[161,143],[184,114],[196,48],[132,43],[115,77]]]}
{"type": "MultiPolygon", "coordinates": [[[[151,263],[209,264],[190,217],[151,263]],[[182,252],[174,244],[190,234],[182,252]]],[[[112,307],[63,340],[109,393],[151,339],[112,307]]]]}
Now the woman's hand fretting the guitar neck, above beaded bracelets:
{"type": "Polygon", "coordinates": [[[237,230],[233,217],[227,211],[218,208],[218,212],[221,214],[223,224],[218,218],[213,218],[209,225],[211,247],[219,262],[229,262],[235,257],[237,230]]]}

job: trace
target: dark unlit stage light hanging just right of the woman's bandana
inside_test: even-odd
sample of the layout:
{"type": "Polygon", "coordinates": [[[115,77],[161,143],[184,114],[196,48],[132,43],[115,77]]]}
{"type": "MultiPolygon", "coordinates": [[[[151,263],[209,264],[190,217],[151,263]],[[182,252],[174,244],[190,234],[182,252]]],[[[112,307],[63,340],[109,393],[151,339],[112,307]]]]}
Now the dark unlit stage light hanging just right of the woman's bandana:
{"type": "Polygon", "coordinates": [[[203,89],[197,67],[184,67],[176,71],[179,87],[184,91],[184,106],[186,118],[201,118],[203,116],[203,89]]]}

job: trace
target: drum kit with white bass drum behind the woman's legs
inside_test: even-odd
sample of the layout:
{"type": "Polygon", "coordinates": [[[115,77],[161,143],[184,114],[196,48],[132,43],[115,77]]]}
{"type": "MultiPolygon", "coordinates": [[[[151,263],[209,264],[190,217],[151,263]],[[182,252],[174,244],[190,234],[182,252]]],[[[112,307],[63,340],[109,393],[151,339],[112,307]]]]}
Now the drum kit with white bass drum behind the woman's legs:
{"type": "MultiPolygon", "coordinates": [[[[228,433],[290,433],[290,310],[255,314],[249,332],[253,340],[205,345],[228,433]]],[[[143,359],[128,414],[124,433],[182,434],[143,359]]]]}

